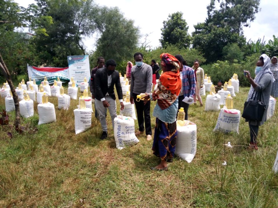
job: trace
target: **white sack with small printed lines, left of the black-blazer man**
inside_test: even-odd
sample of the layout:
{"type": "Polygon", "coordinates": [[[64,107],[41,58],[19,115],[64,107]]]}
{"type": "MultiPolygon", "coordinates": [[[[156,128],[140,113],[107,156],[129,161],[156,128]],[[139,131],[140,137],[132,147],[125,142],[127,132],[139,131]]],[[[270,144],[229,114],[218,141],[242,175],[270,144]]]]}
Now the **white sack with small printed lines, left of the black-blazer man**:
{"type": "Polygon", "coordinates": [[[75,134],[89,129],[92,125],[92,110],[89,108],[75,109],[74,111],[75,134]]]}

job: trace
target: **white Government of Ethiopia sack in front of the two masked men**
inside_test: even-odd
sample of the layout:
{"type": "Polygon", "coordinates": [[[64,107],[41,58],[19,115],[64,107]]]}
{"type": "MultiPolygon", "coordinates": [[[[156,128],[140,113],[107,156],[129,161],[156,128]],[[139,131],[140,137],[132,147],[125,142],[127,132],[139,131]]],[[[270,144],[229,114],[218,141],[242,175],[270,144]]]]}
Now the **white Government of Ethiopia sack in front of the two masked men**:
{"type": "Polygon", "coordinates": [[[134,130],[133,118],[117,116],[114,119],[114,137],[118,149],[123,149],[125,146],[133,146],[139,142],[134,130]]]}

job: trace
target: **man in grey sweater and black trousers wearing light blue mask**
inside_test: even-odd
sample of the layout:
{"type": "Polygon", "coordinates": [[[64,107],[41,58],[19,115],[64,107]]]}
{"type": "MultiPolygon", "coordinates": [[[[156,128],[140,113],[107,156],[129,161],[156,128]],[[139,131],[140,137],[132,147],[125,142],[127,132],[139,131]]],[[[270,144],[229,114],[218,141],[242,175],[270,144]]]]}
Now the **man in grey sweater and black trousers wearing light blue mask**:
{"type": "Polygon", "coordinates": [[[130,103],[135,103],[139,125],[139,131],[135,135],[144,132],[145,120],[147,140],[151,140],[151,102],[149,101],[144,105],[144,101],[134,101],[134,99],[141,93],[151,93],[152,69],[150,65],[143,63],[142,53],[135,53],[133,57],[136,65],[131,68],[130,103]]]}

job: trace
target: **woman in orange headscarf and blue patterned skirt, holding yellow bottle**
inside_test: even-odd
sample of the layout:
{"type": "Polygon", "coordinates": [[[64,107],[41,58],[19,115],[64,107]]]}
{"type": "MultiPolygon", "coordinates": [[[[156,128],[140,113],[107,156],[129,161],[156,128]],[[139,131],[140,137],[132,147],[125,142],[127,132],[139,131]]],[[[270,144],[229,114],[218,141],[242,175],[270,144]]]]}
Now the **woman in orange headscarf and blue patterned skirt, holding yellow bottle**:
{"type": "Polygon", "coordinates": [[[161,67],[163,73],[157,87],[152,94],[144,97],[157,100],[153,110],[156,117],[156,127],[153,138],[153,154],[160,157],[160,164],[151,170],[168,170],[167,161],[171,162],[175,153],[176,145],[176,114],[178,112],[178,95],[182,87],[180,81],[180,62],[171,54],[162,53],[161,67]]]}

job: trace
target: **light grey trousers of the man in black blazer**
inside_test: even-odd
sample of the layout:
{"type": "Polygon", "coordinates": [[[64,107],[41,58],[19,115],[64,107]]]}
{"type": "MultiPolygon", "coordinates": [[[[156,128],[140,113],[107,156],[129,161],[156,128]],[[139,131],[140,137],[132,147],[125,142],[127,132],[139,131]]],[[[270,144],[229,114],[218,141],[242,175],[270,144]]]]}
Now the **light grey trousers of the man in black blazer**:
{"type": "MultiPolygon", "coordinates": [[[[117,117],[117,113],[116,113],[116,100],[113,100],[110,96],[105,96],[105,100],[109,103],[109,113],[112,119],[112,127],[114,130],[114,118],[117,117]]],[[[102,131],[106,131],[107,132],[107,125],[106,125],[106,118],[105,118],[105,114],[107,112],[107,108],[103,106],[102,101],[99,101],[97,99],[95,99],[95,106],[96,106],[96,110],[98,111],[98,118],[100,121],[100,125],[102,128],[102,131]]]]}

